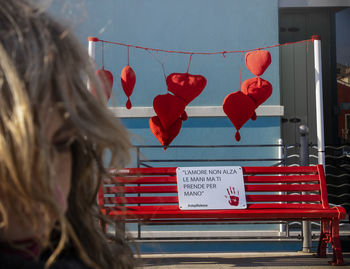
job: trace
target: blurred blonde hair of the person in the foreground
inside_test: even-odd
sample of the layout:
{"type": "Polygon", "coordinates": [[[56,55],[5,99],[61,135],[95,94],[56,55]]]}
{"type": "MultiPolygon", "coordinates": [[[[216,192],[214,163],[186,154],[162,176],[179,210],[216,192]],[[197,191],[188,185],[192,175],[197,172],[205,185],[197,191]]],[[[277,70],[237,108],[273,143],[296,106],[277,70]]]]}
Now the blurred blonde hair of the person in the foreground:
{"type": "Polygon", "coordinates": [[[96,194],[109,176],[106,152],[107,167],[120,168],[129,161],[131,145],[101,94],[96,99],[87,91],[87,80],[97,88],[99,83],[86,49],[29,1],[0,0],[0,25],[0,229],[6,233],[9,212],[30,223],[40,234],[38,243],[53,249],[47,267],[69,244],[91,267],[133,268],[123,236],[116,235],[112,244],[97,222],[96,194]],[[59,109],[78,137],[65,215],[55,198],[50,145],[44,139],[47,103],[59,109]],[[57,219],[60,234],[55,244],[51,219],[57,219]]]}

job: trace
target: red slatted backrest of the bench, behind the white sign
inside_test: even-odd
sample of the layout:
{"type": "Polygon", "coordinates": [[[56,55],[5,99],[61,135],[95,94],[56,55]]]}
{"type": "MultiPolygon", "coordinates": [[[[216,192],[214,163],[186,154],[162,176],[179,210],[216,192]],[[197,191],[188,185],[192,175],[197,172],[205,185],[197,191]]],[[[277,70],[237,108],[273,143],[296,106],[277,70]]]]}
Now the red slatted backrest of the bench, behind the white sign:
{"type": "MultiPolygon", "coordinates": [[[[248,209],[329,208],[321,165],[242,168],[248,209]]],[[[107,210],[179,210],[176,167],[122,169],[110,183],[99,193],[107,210]]]]}

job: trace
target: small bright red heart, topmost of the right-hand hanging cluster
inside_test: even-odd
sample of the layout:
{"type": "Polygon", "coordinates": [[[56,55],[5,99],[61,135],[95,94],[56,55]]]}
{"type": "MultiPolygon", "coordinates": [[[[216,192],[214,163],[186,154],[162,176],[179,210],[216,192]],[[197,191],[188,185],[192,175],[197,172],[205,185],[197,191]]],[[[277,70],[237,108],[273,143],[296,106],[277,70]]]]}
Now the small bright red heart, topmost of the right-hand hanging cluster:
{"type": "Polygon", "coordinates": [[[271,64],[271,54],[267,50],[247,52],[245,64],[254,75],[261,76],[271,64]]]}

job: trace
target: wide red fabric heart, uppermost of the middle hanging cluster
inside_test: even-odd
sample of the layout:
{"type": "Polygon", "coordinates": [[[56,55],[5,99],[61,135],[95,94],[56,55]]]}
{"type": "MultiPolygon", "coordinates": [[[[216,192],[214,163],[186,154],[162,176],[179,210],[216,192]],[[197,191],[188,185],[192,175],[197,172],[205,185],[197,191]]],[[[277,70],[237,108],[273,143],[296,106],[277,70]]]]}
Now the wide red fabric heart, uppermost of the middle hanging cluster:
{"type": "Polygon", "coordinates": [[[204,90],[207,80],[201,75],[172,73],[167,79],[168,91],[189,104],[204,90]]]}

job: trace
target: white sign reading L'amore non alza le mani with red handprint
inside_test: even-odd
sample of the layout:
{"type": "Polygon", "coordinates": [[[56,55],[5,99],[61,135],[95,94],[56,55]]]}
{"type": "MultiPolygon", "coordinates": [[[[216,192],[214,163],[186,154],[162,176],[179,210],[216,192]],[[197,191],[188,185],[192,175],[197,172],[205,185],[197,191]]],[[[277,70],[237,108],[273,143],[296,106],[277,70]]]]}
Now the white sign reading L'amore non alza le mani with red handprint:
{"type": "Polygon", "coordinates": [[[247,208],[240,166],[178,167],[181,210],[247,208]]]}

